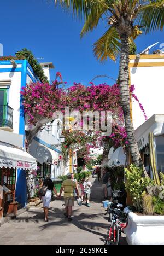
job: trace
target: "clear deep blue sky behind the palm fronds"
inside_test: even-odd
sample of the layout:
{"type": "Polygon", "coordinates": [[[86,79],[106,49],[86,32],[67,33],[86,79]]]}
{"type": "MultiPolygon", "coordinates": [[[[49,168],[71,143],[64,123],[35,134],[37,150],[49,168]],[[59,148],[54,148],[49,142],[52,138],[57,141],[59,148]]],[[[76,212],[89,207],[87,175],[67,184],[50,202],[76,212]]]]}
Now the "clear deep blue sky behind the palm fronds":
{"type": "MultiPolygon", "coordinates": [[[[119,60],[102,64],[92,53],[92,44],[107,29],[105,21],[80,39],[83,22],[73,19],[68,11],[46,3],[46,0],[1,0],[0,6],[0,43],[4,46],[5,56],[15,55],[22,48],[30,49],[35,57],[44,57],[38,61],[54,63],[52,80],[59,71],[68,85],[73,82],[87,85],[97,75],[118,77],[119,60]]],[[[164,43],[164,31],[138,37],[137,51],[156,42],[164,43]]],[[[95,80],[96,84],[103,82],[114,83],[108,78],[95,80]]]]}

